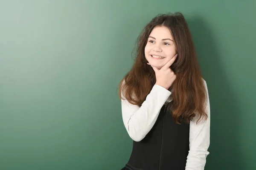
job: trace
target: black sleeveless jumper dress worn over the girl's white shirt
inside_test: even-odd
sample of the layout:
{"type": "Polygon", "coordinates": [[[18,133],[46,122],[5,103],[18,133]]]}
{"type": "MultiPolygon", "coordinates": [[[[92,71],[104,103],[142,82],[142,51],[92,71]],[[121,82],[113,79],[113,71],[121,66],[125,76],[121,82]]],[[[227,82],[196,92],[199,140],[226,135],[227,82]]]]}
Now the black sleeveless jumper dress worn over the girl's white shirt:
{"type": "Polygon", "coordinates": [[[121,170],[185,170],[188,153],[189,124],[176,124],[163,105],[145,138],[133,142],[130,159],[121,170]]]}

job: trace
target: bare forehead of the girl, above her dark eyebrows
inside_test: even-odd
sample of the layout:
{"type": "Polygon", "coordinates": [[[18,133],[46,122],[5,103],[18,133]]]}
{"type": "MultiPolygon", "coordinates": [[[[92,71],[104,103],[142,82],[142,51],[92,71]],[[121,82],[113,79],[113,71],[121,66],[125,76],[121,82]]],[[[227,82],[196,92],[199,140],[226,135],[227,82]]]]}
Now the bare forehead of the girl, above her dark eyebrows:
{"type": "Polygon", "coordinates": [[[156,39],[172,38],[171,31],[166,26],[156,26],[151,31],[150,35],[156,39]]]}

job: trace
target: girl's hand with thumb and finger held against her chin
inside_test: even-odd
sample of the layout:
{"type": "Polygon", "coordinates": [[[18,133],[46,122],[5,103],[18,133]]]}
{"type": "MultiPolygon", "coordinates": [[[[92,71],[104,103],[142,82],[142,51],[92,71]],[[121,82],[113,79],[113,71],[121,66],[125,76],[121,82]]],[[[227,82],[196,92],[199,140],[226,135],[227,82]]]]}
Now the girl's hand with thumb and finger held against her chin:
{"type": "Polygon", "coordinates": [[[175,57],[172,57],[172,59],[170,59],[169,62],[167,62],[160,69],[151,65],[151,67],[154,69],[154,72],[156,74],[156,79],[157,79],[156,85],[160,85],[163,88],[166,88],[167,90],[171,87],[172,83],[176,79],[176,75],[174,74],[170,66],[175,61],[176,58],[177,58],[177,54],[175,55],[175,57]]]}

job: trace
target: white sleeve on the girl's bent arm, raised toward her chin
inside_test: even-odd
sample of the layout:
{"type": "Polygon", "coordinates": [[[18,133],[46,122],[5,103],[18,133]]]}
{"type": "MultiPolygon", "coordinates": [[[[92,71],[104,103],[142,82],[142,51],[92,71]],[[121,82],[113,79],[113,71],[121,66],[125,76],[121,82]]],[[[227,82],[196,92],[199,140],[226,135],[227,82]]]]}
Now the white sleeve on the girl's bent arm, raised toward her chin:
{"type": "Polygon", "coordinates": [[[166,88],[154,85],[141,107],[129,103],[122,95],[122,119],[131,139],[139,142],[148,134],[170,95],[166,88]]]}

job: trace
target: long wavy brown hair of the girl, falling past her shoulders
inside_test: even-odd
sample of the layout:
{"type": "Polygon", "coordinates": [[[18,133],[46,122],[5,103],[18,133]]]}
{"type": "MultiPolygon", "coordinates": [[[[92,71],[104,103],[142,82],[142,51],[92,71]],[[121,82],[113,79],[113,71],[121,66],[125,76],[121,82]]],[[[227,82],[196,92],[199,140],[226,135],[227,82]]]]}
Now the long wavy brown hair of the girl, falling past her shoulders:
{"type": "Polygon", "coordinates": [[[124,95],[128,102],[141,106],[156,82],[155,72],[146,63],[144,53],[148,36],[156,26],[169,28],[178,53],[177,59],[171,66],[176,79],[169,88],[169,91],[172,91],[172,105],[169,103],[167,109],[172,112],[172,117],[178,124],[181,120],[189,123],[195,113],[199,116],[198,121],[202,118],[207,119],[204,79],[202,79],[188,24],[180,12],[160,14],[143,28],[137,38],[134,65],[119,83],[120,99],[124,95]],[[122,92],[125,93],[121,94],[122,92]]]}

